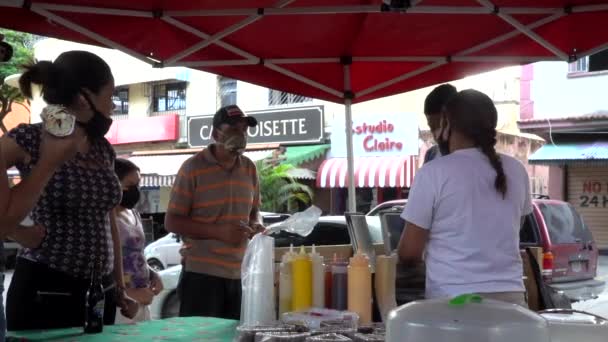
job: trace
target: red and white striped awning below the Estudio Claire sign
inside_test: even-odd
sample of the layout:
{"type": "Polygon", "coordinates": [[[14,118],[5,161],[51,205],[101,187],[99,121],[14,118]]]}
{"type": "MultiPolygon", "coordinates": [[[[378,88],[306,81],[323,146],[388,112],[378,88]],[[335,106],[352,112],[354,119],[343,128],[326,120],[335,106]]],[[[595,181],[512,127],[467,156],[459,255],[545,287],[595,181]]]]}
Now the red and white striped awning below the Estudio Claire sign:
{"type": "MultiPolygon", "coordinates": [[[[355,187],[408,188],[416,173],[416,156],[355,158],[355,187]]],[[[348,186],[346,158],[325,160],[317,172],[317,187],[348,186]]]]}

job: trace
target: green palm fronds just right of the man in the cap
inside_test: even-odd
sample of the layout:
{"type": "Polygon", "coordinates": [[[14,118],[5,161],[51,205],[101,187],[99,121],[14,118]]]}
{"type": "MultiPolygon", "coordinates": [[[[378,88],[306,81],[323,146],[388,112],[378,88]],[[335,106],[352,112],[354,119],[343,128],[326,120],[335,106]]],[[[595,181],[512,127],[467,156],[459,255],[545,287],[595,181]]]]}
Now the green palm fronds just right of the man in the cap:
{"type": "Polygon", "coordinates": [[[313,190],[299,183],[290,174],[294,169],[290,164],[273,165],[265,160],[256,162],[260,178],[262,211],[285,212],[297,208],[298,203],[312,203],[313,190]]]}

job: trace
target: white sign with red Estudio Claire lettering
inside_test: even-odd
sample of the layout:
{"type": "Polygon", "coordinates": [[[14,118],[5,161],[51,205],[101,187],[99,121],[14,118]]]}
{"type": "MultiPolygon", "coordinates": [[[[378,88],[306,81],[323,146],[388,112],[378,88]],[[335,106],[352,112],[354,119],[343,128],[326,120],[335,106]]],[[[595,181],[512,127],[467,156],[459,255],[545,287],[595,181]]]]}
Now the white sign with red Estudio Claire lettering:
{"type": "MultiPolygon", "coordinates": [[[[418,121],[413,113],[353,113],[355,157],[418,155],[418,121]]],[[[335,120],[331,157],[346,157],[346,130],[335,120]]]]}

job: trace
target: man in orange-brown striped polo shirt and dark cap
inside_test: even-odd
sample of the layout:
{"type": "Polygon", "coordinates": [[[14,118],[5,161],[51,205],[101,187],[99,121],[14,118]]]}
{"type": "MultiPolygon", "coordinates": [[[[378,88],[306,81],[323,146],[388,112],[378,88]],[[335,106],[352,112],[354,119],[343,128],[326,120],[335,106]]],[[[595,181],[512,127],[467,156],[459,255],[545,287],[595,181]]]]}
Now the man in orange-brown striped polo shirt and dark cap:
{"type": "Polygon", "coordinates": [[[215,143],[186,160],[173,185],[165,227],[188,246],[178,285],[182,317],[239,319],[243,254],[264,230],[256,168],[243,156],[247,129],[256,125],[237,106],[220,108],[215,143]]]}

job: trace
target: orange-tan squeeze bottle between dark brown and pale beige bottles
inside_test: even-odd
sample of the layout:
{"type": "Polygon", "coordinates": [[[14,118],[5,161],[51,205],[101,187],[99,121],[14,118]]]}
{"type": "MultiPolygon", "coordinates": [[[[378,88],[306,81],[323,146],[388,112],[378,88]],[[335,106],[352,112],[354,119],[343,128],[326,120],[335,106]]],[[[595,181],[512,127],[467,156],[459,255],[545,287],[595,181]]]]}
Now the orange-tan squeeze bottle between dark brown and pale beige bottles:
{"type": "Polygon", "coordinates": [[[372,322],[372,270],[369,258],[360,252],[348,265],[348,311],[359,315],[359,324],[372,322]]]}

